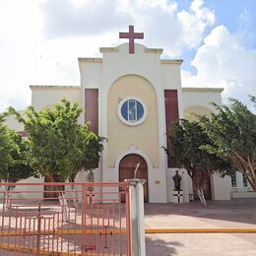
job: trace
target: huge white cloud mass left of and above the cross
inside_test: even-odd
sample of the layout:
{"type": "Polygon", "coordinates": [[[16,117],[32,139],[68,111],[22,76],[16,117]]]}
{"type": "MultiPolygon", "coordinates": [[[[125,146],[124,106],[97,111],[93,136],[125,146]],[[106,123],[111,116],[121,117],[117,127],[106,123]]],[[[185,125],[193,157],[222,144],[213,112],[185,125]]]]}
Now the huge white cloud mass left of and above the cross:
{"type": "Polygon", "coordinates": [[[124,42],[118,32],[129,24],[145,32],[147,46],[180,57],[214,21],[202,0],[188,11],[167,0],[1,0],[0,110],[29,104],[31,84],[79,85],[77,58],[124,42]]]}

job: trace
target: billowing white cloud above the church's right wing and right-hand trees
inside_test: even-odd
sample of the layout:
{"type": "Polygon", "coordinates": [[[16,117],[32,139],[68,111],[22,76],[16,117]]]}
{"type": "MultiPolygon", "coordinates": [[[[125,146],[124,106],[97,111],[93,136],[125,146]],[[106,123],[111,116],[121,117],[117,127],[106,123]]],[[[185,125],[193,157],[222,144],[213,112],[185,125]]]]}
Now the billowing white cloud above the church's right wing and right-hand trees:
{"type": "Polygon", "coordinates": [[[239,34],[224,26],[204,39],[191,64],[197,74],[182,71],[184,87],[221,87],[225,89],[224,98],[232,96],[245,102],[247,95],[255,95],[256,50],[247,49],[239,34]]]}

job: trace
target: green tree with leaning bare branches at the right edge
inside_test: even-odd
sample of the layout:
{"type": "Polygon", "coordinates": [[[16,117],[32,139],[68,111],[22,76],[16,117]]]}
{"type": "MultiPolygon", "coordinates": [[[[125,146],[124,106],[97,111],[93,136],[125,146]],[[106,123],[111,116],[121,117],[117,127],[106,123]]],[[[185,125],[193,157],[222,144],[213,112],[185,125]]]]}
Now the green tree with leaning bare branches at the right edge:
{"type": "MultiPolygon", "coordinates": [[[[256,98],[250,96],[256,109],[256,98]]],[[[229,104],[214,103],[217,113],[212,118],[201,117],[201,126],[214,145],[204,149],[233,162],[237,171],[246,175],[252,189],[256,191],[256,115],[234,98],[229,104]]]]}

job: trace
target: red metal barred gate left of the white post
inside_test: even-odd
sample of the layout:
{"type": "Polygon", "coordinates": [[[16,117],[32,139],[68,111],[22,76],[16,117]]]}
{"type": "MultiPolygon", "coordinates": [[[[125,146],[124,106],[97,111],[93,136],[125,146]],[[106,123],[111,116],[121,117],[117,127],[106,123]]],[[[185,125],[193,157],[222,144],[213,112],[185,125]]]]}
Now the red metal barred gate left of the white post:
{"type": "Polygon", "coordinates": [[[0,185],[0,255],[131,255],[128,183],[0,185]]]}

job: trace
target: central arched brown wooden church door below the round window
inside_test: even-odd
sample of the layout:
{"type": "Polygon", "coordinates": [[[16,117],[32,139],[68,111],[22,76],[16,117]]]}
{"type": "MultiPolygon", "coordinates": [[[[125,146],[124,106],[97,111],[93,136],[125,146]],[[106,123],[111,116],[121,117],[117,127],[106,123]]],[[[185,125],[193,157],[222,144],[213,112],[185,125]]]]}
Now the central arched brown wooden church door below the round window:
{"type": "MultiPolygon", "coordinates": [[[[119,182],[125,179],[134,178],[134,171],[137,163],[140,167],[137,170],[136,178],[146,179],[144,184],[144,202],[149,202],[149,182],[148,182],[148,167],[147,162],[141,156],[136,154],[126,155],[119,163],[119,182]]],[[[122,202],[124,198],[122,198],[122,202]]]]}

